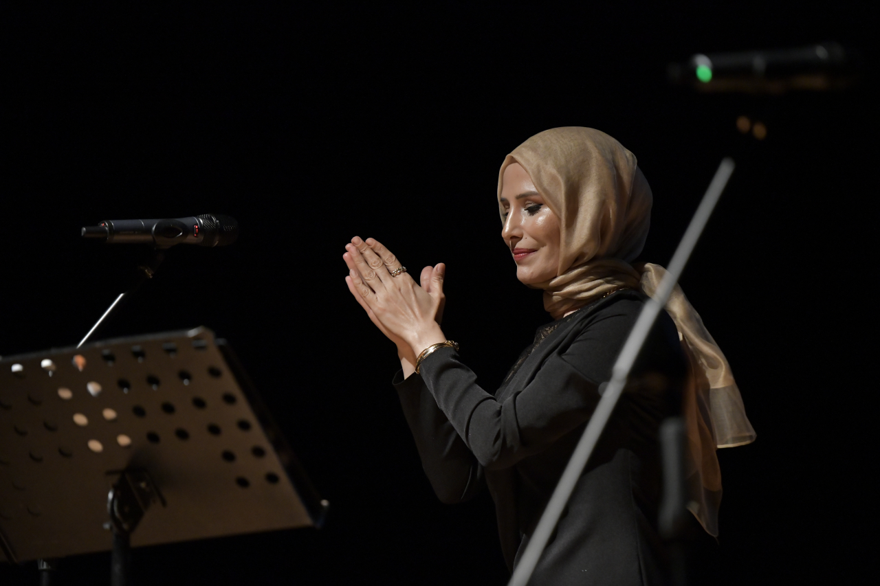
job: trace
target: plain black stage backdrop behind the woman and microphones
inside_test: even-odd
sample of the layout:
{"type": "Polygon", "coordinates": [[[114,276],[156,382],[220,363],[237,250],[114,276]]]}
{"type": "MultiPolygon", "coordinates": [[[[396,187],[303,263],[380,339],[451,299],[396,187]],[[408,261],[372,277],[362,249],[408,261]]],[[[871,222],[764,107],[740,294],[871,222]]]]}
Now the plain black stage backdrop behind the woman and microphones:
{"type": "MultiPolygon", "coordinates": [[[[502,245],[497,169],[568,125],[639,158],[655,194],[643,259],[659,263],[737,158],[682,279],[758,431],[720,453],[724,583],[861,575],[876,514],[861,341],[873,19],[860,3],[608,4],[0,8],[0,354],[75,344],[120,291],[132,252],[81,226],[235,216],[238,244],[173,250],[105,335],[204,325],[231,341],[332,503],[321,531],[136,550],[138,584],[504,583],[488,496],[431,493],[389,385],[394,348],[349,297],[341,254],[357,234],[414,273],[446,262],[444,330],[494,389],[548,319],[502,245]],[[862,50],[862,85],[765,99],[666,83],[667,62],[694,53],[824,40],[862,50]],[[765,140],[737,132],[741,114],[765,140]]],[[[65,583],[107,583],[108,565],[65,560],[65,583]]],[[[36,580],[0,568],[4,585],[36,580]]]]}

